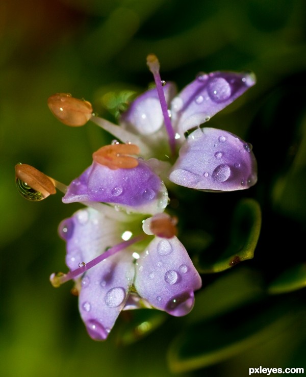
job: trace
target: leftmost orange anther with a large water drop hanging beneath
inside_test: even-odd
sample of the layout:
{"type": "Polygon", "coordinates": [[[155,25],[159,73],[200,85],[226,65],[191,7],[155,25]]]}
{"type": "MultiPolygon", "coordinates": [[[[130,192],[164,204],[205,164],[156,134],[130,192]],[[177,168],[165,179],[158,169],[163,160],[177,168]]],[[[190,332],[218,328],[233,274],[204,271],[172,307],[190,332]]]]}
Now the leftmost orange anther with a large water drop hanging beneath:
{"type": "Polygon", "coordinates": [[[15,172],[17,189],[25,199],[38,202],[56,193],[54,182],[35,167],[17,164],[15,172]]]}

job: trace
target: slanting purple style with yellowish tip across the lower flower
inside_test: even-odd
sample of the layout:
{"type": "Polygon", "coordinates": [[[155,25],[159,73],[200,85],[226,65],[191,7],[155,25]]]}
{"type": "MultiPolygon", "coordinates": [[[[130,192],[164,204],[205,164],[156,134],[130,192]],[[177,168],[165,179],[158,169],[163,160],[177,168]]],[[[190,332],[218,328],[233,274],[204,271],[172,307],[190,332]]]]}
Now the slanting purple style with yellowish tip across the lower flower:
{"type": "Polygon", "coordinates": [[[90,262],[87,262],[85,265],[82,264],[81,267],[73,271],[69,271],[66,274],[64,274],[63,272],[52,273],[50,275],[50,282],[55,288],[58,288],[63,283],[66,283],[69,280],[76,278],[77,276],[81,275],[85,271],[88,271],[90,268],[96,266],[98,263],[105,260],[106,258],[120,252],[121,250],[133,245],[136,242],[142,241],[144,238],[145,236],[141,235],[141,236],[132,238],[128,241],[123,241],[121,243],[118,243],[117,245],[109,248],[105,253],[100,254],[98,257],[92,259],[90,262]]]}

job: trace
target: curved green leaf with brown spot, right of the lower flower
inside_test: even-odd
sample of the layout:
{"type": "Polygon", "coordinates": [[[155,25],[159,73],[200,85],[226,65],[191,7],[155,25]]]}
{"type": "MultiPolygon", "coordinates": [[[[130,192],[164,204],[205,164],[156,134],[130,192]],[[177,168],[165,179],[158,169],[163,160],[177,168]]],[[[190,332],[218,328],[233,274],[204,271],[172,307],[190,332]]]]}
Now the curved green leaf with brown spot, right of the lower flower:
{"type": "Polygon", "coordinates": [[[261,209],[258,202],[254,199],[240,200],[231,221],[231,233],[224,253],[214,260],[210,260],[210,253],[201,253],[194,261],[197,270],[200,273],[220,272],[252,259],[260,229],[261,209]]]}

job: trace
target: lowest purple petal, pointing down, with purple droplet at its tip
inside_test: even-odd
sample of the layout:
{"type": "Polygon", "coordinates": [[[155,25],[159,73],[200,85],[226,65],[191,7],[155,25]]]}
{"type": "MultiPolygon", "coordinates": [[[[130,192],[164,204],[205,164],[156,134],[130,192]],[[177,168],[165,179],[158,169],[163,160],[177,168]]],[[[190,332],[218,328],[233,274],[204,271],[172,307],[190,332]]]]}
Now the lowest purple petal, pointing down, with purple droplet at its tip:
{"type": "Polygon", "coordinates": [[[130,294],[134,273],[133,258],[123,250],[84,274],[79,310],[92,339],[107,338],[130,294]]]}

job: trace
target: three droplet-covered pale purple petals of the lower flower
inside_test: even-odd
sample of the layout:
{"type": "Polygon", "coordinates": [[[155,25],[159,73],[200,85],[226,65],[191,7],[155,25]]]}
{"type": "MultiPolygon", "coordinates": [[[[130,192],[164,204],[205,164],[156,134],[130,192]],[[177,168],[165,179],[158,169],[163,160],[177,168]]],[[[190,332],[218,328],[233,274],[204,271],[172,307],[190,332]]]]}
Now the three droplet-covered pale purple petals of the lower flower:
{"type": "MultiPolygon", "coordinates": [[[[131,221],[114,220],[101,211],[76,212],[59,227],[67,243],[67,266],[75,270],[86,265],[127,233],[131,236],[128,229],[133,227],[131,221]]],[[[152,307],[183,316],[193,307],[193,292],[201,287],[201,279],[179,239],[155,237],[139,254],[133,250],[123,249],[75,279],[80,313],[95,340],[107,338],[121,310],[152,307]],[[137,294],[131,295],[133,285],[137,294]]]]}

